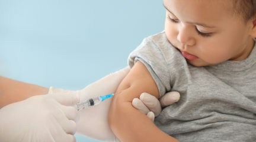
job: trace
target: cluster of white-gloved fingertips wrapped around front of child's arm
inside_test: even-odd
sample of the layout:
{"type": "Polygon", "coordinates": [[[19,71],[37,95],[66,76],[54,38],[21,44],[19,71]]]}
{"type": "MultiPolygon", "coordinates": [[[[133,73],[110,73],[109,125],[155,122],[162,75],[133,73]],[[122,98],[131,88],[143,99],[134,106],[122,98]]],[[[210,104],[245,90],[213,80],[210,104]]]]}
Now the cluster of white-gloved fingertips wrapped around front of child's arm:
{"type": "Polygon", "coordinates": [[[174,104],[174,102],[178,102],[179,99],[180,93],[178,92],[165,93],[159,100],[149,93],[142,93],[140,99],[133,99],[132,105],[154,121],[155,117],[161,113],[161,107],[174,104]]]}

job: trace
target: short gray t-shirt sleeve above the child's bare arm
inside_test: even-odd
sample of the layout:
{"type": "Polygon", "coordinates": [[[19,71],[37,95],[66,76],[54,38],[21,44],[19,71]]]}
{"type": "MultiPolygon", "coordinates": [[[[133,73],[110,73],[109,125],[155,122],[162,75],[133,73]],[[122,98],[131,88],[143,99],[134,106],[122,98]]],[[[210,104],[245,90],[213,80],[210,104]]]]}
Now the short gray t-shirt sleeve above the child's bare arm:
{"type": "Polygon", "coordinates": [[[145,38],[140,46],[130,53],[128,58],[130,69],[132,69],[137,60],[144,63],[151,73],[158,86],[159,97],[163,96],[166,92],[171,91],[171,78],[167,62],[162,51],[151,38],[145,38]]]}

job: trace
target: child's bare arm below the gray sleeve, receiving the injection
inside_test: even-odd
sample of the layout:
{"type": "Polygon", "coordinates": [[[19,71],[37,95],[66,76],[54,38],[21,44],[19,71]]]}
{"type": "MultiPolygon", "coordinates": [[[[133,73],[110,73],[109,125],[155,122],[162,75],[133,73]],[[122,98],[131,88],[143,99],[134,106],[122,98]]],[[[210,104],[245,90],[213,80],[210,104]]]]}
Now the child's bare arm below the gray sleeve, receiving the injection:
{"type": "Polygon", "coordinates": [[[145,64],[137,62],[129,74],[120,83],[113,97],[108,114],[111,130],[121,141],[168,141],[177,139],[161,131],[142,112],[132,106],[134,98],[143,92],[159,98],[158,87],[145,64]],[[123,91],[124,90],[124,91],[123,91]]]}

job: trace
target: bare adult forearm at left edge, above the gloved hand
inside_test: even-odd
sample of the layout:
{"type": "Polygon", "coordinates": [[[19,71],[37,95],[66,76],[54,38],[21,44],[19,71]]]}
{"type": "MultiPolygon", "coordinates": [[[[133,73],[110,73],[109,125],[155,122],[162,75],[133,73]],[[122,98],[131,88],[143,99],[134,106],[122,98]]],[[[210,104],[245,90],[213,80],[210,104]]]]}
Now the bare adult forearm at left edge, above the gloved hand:
{"type": "Polygon", "coordinates": [[[0,76],[0,108],[48,92],[49,88],[0,76]]]}

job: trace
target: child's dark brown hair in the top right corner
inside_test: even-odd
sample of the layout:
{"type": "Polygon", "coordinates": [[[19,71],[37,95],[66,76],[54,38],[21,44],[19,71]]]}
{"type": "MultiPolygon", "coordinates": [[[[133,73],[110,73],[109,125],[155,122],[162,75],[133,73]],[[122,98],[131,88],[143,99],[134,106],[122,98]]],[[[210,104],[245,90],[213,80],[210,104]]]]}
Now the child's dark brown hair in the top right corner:
{"type": "MultiPolygon", "coordinates": [[[[229,1],[230,0],[224,0],[229,1]]],[[[256,18],[256,0],[232,0],[231,14],[239,15],[244,23],[256,18]]]]}

